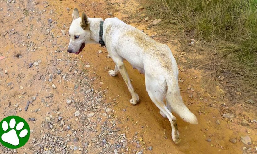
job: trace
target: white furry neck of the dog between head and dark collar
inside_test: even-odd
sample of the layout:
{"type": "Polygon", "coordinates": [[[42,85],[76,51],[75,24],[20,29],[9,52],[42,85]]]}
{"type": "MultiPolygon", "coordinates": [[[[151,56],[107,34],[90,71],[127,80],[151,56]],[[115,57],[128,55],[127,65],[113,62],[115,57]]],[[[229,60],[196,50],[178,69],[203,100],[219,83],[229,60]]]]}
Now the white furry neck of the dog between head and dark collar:
{"type": "Polygon", "coordinates": [[[90,43],[99,44],[100,21],[103,21],[103,19],[88,18],[90,38],[92,40],[90,43]]]}

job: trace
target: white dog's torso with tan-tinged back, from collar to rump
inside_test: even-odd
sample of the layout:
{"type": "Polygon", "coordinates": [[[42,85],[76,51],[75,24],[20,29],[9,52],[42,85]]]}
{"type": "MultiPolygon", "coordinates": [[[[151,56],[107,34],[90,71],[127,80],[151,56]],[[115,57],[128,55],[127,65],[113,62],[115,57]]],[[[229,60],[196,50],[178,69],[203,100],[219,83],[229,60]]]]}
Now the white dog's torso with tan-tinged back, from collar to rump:
{"type": "Polygon", "coordinates": [[[118,18],[105,19],[103,38],[107,46],[115,50],[109,51],[111,54],[118,54],[137,69],[144,69],[144,63],[156,61],[155,67],[173,70],[173,75],[178,75],[177,63],[167,45],[151,39],[118,18]]]}

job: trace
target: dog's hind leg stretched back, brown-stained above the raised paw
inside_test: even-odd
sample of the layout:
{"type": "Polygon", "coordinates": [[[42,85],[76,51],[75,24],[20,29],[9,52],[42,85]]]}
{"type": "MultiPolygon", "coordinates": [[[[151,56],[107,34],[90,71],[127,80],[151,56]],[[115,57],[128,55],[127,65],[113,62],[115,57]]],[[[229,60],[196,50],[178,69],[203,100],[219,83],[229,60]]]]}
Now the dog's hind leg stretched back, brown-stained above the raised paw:
{"type": "Polygon", "coordinates": [[[158,79],[156,80],[156,78],[148,77],[146,75],[145,85],[151,100],[160,109],[160,113],[166,115],[169,119],[172,128],[172,140],[175,142],[175,144],[178,144],[181,141],[181,138],[178,132],[176,117],[168,110],[163,102],[164,95],[166,94],[166,82],[158,79]]]}

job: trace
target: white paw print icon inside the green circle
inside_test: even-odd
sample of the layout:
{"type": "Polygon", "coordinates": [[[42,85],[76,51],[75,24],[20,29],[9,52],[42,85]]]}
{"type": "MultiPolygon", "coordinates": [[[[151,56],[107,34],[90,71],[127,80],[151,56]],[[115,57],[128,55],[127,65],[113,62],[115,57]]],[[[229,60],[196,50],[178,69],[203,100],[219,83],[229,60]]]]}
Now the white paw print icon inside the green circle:
{"type": "MultiPolygon", "coordinates": [[[[23,122],[19,122],[17,125],[16,125],[16,128],[14,128],[16,125],[16,121],[15,119],[11,119],[10,120],[10,123],[9,123],[9,127],[11,128],[10,131],[4,133],[2,136],[1,136],[1,139],[4,141],[4,142],[7,142],[9,144],[12,144],[14,146],[17,146],[19,145],[19,138],[18,138],[18,135],[17,135],[17,132],[16,131],[20,131],[23,126],[24,126],[24,123],[23,122]]],[[[2,123],[2,129],[4,131],[7,131],[8,129],[8,123],[6,121],[3,121],[2,123]]],[[[19,133],[19,137],[20,138],[23,138],[25,137],[26,135],[28,134],[28,130],[27,129],[24,129],[22,130],[20,133],[19,133]]]]}

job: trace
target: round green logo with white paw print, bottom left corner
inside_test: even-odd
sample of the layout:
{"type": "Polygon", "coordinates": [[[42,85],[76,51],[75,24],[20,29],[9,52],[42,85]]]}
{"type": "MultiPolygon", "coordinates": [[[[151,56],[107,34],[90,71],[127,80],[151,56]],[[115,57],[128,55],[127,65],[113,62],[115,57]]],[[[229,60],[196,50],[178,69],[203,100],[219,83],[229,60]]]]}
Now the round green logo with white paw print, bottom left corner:
{"type": "Polygon", "coordinates": [[[24,146],[30,138],[29,124],[19,116],[8,116],[0,122],[0,142],[10,149],[24,146]]]}

